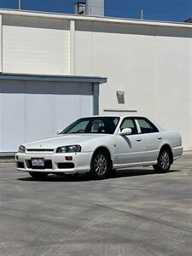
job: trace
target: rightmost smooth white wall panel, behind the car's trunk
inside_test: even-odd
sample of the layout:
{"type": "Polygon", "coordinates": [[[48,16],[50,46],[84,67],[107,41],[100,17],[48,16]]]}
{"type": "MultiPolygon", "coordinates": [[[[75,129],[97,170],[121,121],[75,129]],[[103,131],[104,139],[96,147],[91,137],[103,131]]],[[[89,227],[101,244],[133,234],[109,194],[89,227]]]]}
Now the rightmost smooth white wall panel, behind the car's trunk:
{"type": "Polygon", "coordinates": [[[178,37],[168,36],[170,29],[158,29],[156,38],[156,101],[159,122],[166,129],[183,134],[183,144],[190,147],[190,39],[189,30],[177,30],[178,37]],[[184,35],[183,35],[184,33],[184,35]],[[184,37],[183,37],[184,36],[184,37]]]}

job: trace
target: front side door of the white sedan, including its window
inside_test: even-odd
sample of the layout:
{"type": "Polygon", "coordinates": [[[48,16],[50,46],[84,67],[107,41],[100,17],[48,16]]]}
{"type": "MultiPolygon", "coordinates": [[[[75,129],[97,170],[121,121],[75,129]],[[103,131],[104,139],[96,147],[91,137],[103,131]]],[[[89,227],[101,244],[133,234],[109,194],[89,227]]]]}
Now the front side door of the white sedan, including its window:
{"type": "Polygon", "coordinates": [[[117,162],[118,164],[135,164],[143,162],[144,143],[143,134],[139,134],[136,121],[133,118],[122,120],[119,131],[131,128],[128,136],[117,135],[117,162]]]}

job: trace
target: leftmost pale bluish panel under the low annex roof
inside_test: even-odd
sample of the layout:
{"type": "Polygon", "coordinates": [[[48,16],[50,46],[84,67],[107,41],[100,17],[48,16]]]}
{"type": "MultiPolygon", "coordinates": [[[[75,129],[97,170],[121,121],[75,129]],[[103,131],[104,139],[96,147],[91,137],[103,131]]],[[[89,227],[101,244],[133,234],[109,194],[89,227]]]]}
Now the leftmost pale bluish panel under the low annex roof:
{"type": "Polygon", "coordinates": [[[1,146],[3,152],[15,152],[25,141],[25,83],[2,81],[1,146]]]}

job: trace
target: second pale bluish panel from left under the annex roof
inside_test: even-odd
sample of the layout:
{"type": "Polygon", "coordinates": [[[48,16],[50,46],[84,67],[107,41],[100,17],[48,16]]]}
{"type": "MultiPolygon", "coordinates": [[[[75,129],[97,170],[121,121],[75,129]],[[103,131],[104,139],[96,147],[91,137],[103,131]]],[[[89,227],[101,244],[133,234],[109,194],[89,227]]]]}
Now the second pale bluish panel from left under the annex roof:
{"type": "Polygon", "coordinates": [[[53,133],[51,84],[26,83],[26,141],[49,137],[53,133]]]}

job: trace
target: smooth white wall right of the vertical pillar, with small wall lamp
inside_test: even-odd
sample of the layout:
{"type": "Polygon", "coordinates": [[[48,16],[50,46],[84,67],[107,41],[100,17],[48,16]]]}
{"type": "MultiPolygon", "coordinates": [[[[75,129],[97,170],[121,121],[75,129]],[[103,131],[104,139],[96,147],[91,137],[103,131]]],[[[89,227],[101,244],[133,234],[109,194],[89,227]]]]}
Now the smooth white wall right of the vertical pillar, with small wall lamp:
{"type": "Polygon", "coordinates": [[[77,21],[75,43],[75,73],[108,77],[101,113],[137,110],[179,131],[192,149],[192,29],[77,21]],[[125,90],[125,104],[117,90],[125,90]]]}

